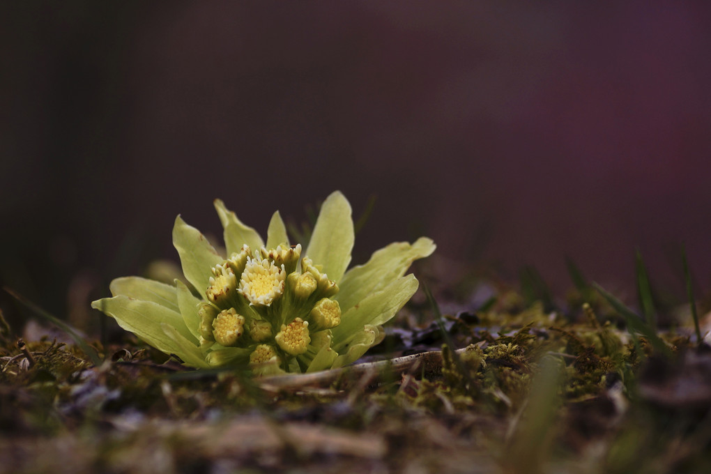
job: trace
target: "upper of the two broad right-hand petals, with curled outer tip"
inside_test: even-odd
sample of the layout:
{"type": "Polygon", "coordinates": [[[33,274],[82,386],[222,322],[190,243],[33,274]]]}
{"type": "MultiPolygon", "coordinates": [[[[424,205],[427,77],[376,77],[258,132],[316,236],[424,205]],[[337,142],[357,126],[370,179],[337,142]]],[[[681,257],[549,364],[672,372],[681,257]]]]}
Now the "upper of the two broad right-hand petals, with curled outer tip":
{"type": "Polygon", "coordinates": [[[376,250],[367,263],[354,266],[338,282],[334,299],[346,312],[373,291],[378,291],[405,274],[412,262],[429,257],[437,246],[432,239],[420,237],[414,244],[393,242],[376,250]]]}

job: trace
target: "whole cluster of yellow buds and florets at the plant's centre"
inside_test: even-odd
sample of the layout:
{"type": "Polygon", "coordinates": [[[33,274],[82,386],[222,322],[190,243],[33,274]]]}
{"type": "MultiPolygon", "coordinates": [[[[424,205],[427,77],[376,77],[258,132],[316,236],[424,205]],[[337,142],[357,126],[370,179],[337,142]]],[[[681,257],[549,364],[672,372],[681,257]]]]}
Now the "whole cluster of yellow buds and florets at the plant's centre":
{"type": "Polygon", "coordinates": [[[311,340],[329,344],[341,310],[331,298],[336,283],[300,258],[301,245],[255,252],[245,245],[215,266],[205,290],[209,303],[198,308],[203,347],[241,348],[253,367],[306,370],[318,352],[311,340]]]}

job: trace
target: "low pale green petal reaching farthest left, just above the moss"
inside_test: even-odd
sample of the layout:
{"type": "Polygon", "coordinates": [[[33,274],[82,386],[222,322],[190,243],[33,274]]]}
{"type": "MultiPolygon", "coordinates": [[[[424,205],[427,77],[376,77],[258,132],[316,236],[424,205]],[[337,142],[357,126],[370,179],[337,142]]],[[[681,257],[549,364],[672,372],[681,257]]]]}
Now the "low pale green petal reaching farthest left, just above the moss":
{"type": "Polygon", "coordinates": [[[183,338],[197,344],[180,313],[161,306],[153,301],[142,301],[128,296],[114,296],[92,302],[92,308],[111,316],[125,330],[131,331],[154,348],[166,354],[179,354],[181,348],[166,335],[161,323],[176,328],[183,338]]]}

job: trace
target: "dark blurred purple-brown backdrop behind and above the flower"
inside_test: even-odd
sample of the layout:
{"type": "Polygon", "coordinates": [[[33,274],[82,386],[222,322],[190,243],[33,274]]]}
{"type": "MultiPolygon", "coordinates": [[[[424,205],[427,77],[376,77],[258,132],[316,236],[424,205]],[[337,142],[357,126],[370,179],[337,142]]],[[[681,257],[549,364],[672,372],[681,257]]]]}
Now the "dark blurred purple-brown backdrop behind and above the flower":
{"type": "Polygon", "coordinates": [[[178,213],[264,232],[340,189],[377,196],[355,263],[428,235],[459,274],[626,288],[640,249],[680,289],[685,244],[708,285],[710,5],[5,2],[0,278],[80,311],[178,213]]]}

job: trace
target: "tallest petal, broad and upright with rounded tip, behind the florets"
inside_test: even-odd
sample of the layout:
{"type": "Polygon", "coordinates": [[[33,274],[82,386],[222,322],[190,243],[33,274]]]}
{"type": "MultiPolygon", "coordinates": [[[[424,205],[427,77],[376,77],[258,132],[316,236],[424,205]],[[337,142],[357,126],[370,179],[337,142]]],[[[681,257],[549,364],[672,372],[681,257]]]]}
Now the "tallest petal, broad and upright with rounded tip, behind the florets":
{"type": "Polygon", "coordinates": [[[351,213],[351,205],[341,191],[331,193],[321,205],[309,248],[306,249],[306,257],[321,265],[328,279],[336,283],[351,263],[355,239],[351,213]]]}

